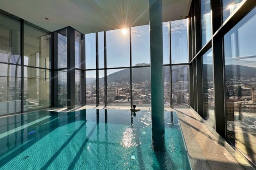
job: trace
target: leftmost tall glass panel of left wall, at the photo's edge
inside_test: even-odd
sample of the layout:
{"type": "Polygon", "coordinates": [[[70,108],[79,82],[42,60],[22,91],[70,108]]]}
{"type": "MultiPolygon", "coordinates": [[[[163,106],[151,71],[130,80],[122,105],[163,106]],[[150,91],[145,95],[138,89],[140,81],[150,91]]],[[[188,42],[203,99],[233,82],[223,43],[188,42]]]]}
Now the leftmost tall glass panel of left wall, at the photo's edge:
{"type": "Polygon", "coordinates": [[[0,62],[0,115],[20,112],[20,22],[1,14],[0,62]]]}

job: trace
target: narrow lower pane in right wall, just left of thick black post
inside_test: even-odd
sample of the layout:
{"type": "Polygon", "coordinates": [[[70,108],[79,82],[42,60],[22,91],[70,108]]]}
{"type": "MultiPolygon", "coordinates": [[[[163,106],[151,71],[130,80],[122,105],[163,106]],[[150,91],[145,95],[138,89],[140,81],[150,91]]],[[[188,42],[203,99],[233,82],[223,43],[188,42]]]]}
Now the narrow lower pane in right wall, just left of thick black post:
{"type": "Polygon", "coordinates": [[[215,127],[212,48],[203,55],[204,118],[215,127]]]}

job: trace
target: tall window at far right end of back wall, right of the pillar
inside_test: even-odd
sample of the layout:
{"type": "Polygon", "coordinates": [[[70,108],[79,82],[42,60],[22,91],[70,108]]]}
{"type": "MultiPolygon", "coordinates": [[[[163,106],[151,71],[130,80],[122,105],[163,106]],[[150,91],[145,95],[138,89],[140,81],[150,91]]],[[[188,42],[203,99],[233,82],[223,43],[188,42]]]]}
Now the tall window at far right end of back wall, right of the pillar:
{"type": "Polygon", "coordinates": [[[189,107],[187,20],[171,21],[172,107],[189,107]]]}

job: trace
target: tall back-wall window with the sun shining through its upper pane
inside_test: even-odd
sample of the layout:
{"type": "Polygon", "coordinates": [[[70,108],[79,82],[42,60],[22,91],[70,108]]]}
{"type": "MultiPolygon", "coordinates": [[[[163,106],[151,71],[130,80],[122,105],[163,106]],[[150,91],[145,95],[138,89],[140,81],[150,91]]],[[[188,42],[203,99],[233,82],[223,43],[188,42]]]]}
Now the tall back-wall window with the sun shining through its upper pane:
{"type": "Polygon", "coordinates": [[[129,28],[106,32],[107,50],[107,106],[131,105],[130,81],[130,30],[129,28]],[[119,68],[119,69],[109,69],[119,68]]]}

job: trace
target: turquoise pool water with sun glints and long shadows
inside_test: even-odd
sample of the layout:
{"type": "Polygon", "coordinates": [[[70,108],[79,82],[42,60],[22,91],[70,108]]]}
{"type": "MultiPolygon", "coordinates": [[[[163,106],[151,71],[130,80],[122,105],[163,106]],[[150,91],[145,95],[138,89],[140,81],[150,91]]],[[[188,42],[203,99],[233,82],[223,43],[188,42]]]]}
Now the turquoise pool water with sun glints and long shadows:
{"type": "Polygon", "coordinates": [[[0,118],[0,170],[190,170],[175,112],[163,151],[152,149],[151,112],[36,111],[0,118]]]}

